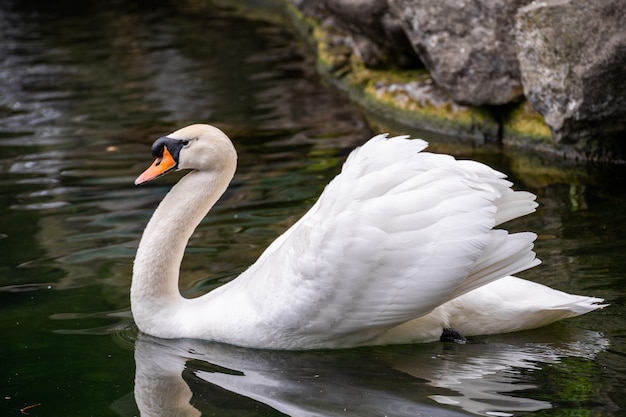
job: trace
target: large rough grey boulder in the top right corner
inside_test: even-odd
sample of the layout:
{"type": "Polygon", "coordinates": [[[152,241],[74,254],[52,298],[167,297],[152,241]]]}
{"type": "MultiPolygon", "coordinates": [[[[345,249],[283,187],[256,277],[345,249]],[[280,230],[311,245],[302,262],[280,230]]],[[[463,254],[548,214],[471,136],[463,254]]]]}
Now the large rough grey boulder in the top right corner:
{"type": "Polygon", "coordinates": [[[556,142],[626,132],[626,1],[534,2],[515,29],[524,93],[556,142]]]}

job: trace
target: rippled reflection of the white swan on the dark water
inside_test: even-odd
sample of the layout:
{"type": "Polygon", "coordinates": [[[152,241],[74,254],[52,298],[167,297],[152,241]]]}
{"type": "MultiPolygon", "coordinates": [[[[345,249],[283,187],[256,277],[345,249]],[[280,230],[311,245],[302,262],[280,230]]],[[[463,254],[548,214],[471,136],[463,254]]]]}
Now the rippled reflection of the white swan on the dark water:
{"type": "Polygon", "coordinates": [[[552,407],[515,395],[536,388],[525,372],[592,359],[608,344],[595,332],[561,336],[569,339],[286,352],[140,334],[135,400],[143,416],[160,417],[258,408],[254,402],[290,416],[514,415],[552,407]],[[240,401],[216,401],[223,390],[240,401]]]}

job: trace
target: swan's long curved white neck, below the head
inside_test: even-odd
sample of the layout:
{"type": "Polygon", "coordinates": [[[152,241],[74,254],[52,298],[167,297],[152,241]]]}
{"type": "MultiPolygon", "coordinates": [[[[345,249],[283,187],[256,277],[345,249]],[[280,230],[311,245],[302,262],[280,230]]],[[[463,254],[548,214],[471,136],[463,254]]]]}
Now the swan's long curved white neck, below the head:
{"type": "Polygon", "coordinates": [[[232,172],[192,171],[152,215],[137,249],[131,284],[131,308],[140,329],[162,326],[184,304],[178,277],[185,247],[233,175],[234,167],[232,172]]]}

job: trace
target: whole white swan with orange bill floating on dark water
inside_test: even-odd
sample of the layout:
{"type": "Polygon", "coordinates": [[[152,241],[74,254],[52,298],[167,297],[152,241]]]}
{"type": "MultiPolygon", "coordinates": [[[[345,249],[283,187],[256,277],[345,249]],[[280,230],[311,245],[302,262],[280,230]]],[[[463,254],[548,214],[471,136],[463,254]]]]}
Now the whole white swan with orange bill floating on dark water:
{"type": "Polygon", "coordinates": [[[233,144],[192,125],[152,145],[136,184],[191,169],[146,226],[131,307],[139,329],[272,349],[428,342],[511,332],[596,308],[509,276],[535,266],[533,233],[494,227],[535,210],[486,165],[422,152],[407,137],[372,138],[317,203],[233,281],[185,299],[179,266],[194,229],[235,173],[233,144]]]}

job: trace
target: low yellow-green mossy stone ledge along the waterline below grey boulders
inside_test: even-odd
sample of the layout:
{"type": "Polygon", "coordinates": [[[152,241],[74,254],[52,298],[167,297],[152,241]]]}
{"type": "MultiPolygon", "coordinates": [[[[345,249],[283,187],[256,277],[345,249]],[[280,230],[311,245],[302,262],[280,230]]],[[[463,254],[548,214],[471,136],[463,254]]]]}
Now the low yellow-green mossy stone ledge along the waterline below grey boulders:
{"type": "Polygon", "coordinates": [[[425,69],[372,70],[355,57],[346,34],[324,27],[285,2],[292,19],[311,45],[316,65],[327,82],[345,91],[352,100],[377,118],[384,117],[408,128],[469,138],[499,141],[506,132],[507,143],[515,146],[550,141],[550,131],[538,113],[490,106],[471,107],[455,103],[438,87],[425,69]]]}

